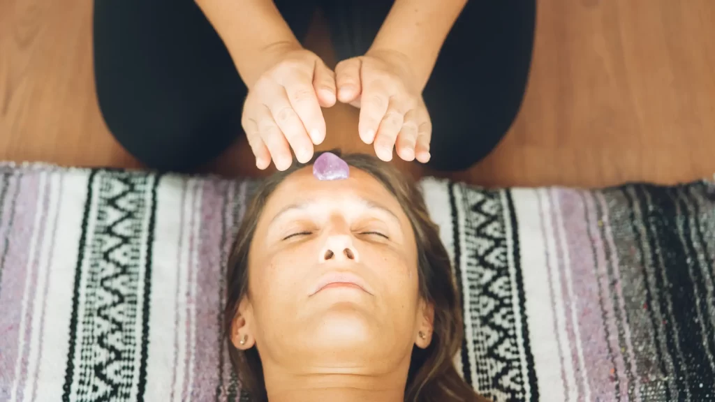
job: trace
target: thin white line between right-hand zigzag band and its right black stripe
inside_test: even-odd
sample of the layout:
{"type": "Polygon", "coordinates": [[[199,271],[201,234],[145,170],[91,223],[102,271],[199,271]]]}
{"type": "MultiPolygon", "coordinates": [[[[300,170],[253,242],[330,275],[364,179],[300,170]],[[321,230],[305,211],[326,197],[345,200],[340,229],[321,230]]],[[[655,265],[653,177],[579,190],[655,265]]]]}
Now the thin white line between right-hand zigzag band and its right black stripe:
{"type": "MultiPolygon", "coordinates": [[[[519,363],[521,363],[521,373],[523,378],[521,381],[524,385],[524,400],[531,400],[533,395],[533,390],[531,389],[531,383],[529,383],[528,378],[528,367],[526,366],[526,350],[524,350],[524,345],[526,340],[523,338],[523,327],[521,326],[523,318],[521,317],[521,305],[519,304],[519,290],[516,283],[516,261],[514,261],[514,233],[512,232],[514,227],[511,227],[511,210],[509,210],[509,202],[507,198],[507,191],[501,192],[501,205],[503,205],[503,220],[504,220],[504,237],[506,237],[507,253],[506,260],[509,269],[509,280],[511,281],[511,305],[514,312],[514,326],[516,330],[516,337],[518,339],[516,347],[519,350],[519,363]]],[[[516,212],[515,212],[516,213],[516,212]]],[[[518,221],[517,221],[518,222],[518,221]]]]}

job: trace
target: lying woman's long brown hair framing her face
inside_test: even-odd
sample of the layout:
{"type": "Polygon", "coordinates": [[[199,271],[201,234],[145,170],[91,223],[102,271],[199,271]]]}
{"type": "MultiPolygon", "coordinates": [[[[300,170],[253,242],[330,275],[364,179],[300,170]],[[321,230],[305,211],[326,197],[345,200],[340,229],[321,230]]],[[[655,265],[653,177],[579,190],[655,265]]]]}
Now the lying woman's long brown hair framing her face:
{"type": "MultiPolygon", "coordinates": [[[[331,152],[340,155],[340,152],[331,152]]],[[[343,155],[342,159],[375,177],[403,207],[412,222],[417,242],[420,296],[434,305],[432,342],[426,349],[413,348],[405,401],[485,401],[459,376],[452,361],[462,342],[462,312],[447,250],[440,241],[438,227],[430,220],[420,190],[413,180],[375,157],[351,154],[343,155]]],[[[267,400],[261,359],[256,348],[242,351],[232,344],[232,323],[238,305],[248,293],[248,253],[258,218],[275,188],[303,166],[294,160],[290,169],[277,172],[262,182],[245,212],[228,263],[225,338],[242,388],[255,401],[267,400]]]]}

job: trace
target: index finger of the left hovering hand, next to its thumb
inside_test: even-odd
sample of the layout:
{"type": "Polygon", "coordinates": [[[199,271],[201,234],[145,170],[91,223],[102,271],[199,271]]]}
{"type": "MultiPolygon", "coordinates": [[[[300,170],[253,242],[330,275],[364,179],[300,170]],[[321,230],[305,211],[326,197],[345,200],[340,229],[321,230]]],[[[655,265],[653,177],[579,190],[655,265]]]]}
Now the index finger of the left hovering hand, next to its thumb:
{"type": "Polygon", "coordinates": [[[325,118],[322,117],[320,103],[312,86],[312,77],[299,73],[283,84],[288,101],[303,122],[313,144],[320,144],[325,139],[325,118]]]}

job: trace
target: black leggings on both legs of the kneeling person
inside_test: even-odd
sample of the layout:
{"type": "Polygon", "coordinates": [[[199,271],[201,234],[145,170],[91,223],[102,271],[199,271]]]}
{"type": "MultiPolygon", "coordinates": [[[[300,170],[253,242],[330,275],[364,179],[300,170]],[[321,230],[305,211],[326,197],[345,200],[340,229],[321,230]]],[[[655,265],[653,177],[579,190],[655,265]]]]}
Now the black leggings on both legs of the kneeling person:
{"type": "MultiPolygon", "coordinates": [[[[392,1],[276,4],[300,39],[321,6],[347,59],[365,54],[392,1]]],[[[535,14],[536,0],[468,1],[423,92],[434,169],[468,168],[506,134],[526,87],[535,14]]],[[[242,133],[247,89],[193,0],[95,0],[94,72],[107,126],[149,167],[192,170],[242,133]]]]}

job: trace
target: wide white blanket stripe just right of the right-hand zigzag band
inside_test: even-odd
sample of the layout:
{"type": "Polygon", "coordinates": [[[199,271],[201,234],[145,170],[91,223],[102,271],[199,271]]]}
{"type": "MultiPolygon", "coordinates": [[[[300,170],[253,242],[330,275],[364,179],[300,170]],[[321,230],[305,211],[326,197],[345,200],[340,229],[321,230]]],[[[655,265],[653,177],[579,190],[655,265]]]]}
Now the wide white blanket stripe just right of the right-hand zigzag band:
{"type": "Polygon", "coordinates": [[[518,242],[526,299],[529,343],[538,376],[538,393],[548,401],[563,401],[561,363],[553,331],[553,309],[548,288],[546,239],[541,232],[541,216],[536,190],[511,192],[518,221],[518,242]]]}

